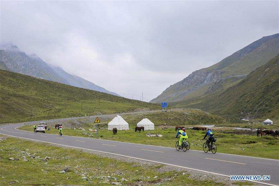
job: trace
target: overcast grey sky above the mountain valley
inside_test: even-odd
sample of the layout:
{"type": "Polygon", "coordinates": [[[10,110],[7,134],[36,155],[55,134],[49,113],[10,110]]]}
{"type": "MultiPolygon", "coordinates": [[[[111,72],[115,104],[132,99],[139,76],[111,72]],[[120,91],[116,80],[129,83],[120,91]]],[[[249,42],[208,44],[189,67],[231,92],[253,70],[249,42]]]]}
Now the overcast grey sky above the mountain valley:
{"type": "Polygon", "coordinates": [[[13,43],[125,97],[143,93],[144,101],[278,33],[278,1],[1,1],[0,6],[1,44],[13,43]]]}

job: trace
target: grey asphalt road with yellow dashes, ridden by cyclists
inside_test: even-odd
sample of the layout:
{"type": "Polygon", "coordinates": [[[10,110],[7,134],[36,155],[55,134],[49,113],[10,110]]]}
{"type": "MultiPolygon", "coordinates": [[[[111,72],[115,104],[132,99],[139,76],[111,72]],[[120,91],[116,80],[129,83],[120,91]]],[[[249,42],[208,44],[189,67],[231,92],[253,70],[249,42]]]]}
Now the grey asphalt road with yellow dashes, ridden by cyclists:
{"type": "MultiPolygon", "coordinates": [[[[29,140],[43,141],[63,146],[78,147],[92,151],[106,152],[124,157],[132,157],[166,165],[200,170],[204,172],[229,175],[270,175],[269,181],[258,181],[267,185],[279,185],[279,161],[264,158],[237,156],[230,154],[189,150],[176,151],[175,148],[124,143],[101,139],[80,138],[27,132],[16,129],[20,124],[3,125],[1,134],[29,140]]],[[[218,145],[218,143],[217,143],[218,145]]],[[[218,147],[218,146],[217,146],[218,147]]]]}

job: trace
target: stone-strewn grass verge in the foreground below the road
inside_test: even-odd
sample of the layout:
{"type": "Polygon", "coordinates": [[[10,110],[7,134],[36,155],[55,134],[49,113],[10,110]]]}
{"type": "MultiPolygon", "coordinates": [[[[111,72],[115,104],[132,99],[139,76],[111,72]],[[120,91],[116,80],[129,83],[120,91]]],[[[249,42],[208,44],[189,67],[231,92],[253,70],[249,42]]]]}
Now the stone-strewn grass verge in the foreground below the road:
{"type": "Polygon", "coordinates": [[[209,186],[212,183],[226,185],[214,178],[189,178],[187,170],[183,171],[186,172],[183,175],[183,172],[176,170],[162,171],[163,165],[159,164],[124,162],[28,140],[4,138],[0,145],[1,185],[110,185],[113,182],[121,182],[123,185],[173,185],[178,182],[193,186],[209,186]],[[25,156],[26,161],[22,156],[25,156]],[[19,159],[8,160],[11,157],[19,159]],[[65,168],[69,171],[59,173],[65,168]],[[121,181],[122,178],[126,180],[121,181]]]}

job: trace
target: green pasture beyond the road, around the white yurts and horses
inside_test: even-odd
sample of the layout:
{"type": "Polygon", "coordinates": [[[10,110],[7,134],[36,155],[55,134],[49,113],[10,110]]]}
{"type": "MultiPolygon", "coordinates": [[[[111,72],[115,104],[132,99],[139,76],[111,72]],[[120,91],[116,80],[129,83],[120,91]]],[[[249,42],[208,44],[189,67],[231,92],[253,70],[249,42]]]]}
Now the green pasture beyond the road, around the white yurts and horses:
{"type": "MultiPolygon", "coordinates": [[[[146,115],[145,115],[146,116],[146,115]]],[[[147,145],[156,145],[156,146],[164,146],[164,147],[175,147],[175,143],[177,138],[175,138],[176,132],[173,127],[169,129],[161,129],[160,125],[156,122],[154,117],[148,117],[152,122],[154,122],[157,126],[155,130],[146,130],[145,132],[136,133],[133,129],[136,126],[137,122],[140,121],[141,118],[144,116],[138,115],[131,115],[131,116],[123,116],[123,118],[129,123],[130,130],[122,131],[119,130],[117,135],[112,135],[112,131],[108,131],[107,129],[98,129],[98,138],[106,139],[106,140],[113,140],[113,141],[121,141],[121,142],[129,142],[129,143],[139,143],[139,144],[147,144],[147,145]],[[163,137],[147,137],[146,134],[162,134],[163,137]]],[[[99,127],[107,127],[107,122],[103,122],[99,127]]],[[[202,138],[205,135],[205,131],[196,131],[191,130],[191,125],[184,123],[185,127],[187,128],[187,135],[188,140],[191,144],[191,149],[193,150],[200,150],[202,151],[202,145],[205,140],[202,138]]],[[[212,123],[211,123],[212,124],[212,123]]],[[[217,125],[228,125],[225,123],[220,123],[217,125]]],[[[248,124],[231,124],[233,127],[247,127],[248,124]]],[[[65,125],[64,125],[65,126],[65,125]]],[[[251,125],[248,125],[251,127],[251,125]]],[[[254,127],[255,125],[253,125],[254,127]]],[[[63,129],[63,135],[69,136],[79,136],[79,137],[89,137],[91,134],[96,138],[96,134],[92,133],[92,131],[88,131],[89,128],[96,129],[96,125],[92,122],[87,123],[85,125],[79,125],[78,127],[83,127],[86,131],[81,130],[73,130],[70,127],[65,127],[63,129]],[[87,132],[88,134],[83,134],[87,132]]],[[[248,128],[248,127],[247,127],[248,128]]],[[[270,126],[268,129],[278,129],[278,125],[270,126]]],[[[32,132],[32,126],[26,125],[20,127],[21,130],[27,130],[32,132]]],[[[51,126],[51,130],[47,131],[48,134],[57,134],[58,130],[54,129],[51,126]]],[[[264,158],[272,158],[272,159],[279,159],[278,150],[279,144],[277,143],[277,138],[271,136],[263,136],[258,138],[255,134],[252,135],[239,135],[239,134],[231,134],[234,133],[234,130],[231,127],[226,128],[214,128],[214,135],[218,138],[216,145],[217,145],[217,152],[227,153],[227,154],[236,154],[236,155],[245,155],[245,156],[253,156],[253,157],[264,157],[264,158]],[[243,149],[244,148],[244,149],[243,149]],[[243,150],[242,150],[243,149],[243,150]]]]}

